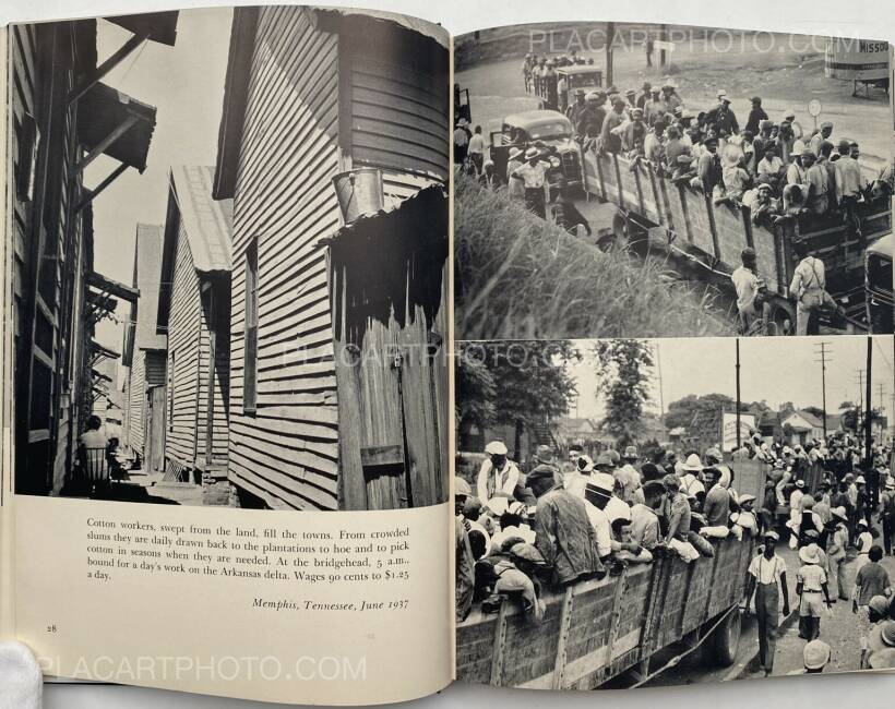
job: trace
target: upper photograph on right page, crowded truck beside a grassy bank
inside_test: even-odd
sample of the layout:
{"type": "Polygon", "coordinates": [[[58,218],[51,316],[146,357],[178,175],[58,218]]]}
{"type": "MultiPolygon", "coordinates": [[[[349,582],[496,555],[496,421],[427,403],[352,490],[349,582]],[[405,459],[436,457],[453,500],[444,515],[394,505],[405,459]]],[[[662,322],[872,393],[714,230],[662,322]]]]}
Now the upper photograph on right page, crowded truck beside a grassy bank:
{"type": "Polygon", "coordinates": [[[457,339],[893,332],[888,44],[455,38],[457,339]]]}

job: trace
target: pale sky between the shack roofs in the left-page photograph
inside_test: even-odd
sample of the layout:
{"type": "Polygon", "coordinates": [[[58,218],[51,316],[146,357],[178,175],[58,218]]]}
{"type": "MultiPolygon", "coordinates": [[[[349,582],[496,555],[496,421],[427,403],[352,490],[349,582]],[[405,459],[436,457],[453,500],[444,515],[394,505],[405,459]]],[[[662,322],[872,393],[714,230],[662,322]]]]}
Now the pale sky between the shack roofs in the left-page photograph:
{"type": "MultiPolygon", "coordinates": [[[[174,47],[144,43],[103,80],[158,109],[146,170],[127,170],[94,202],[95,267],[105,276],[132,283],[136,224],[164,224],[169,167],[215,164],[231,16],[229,9],[181,12],[174,47]]],[[[131,36],[103,20],[97,31],[99,62],[131,36]]],[[[85,184],[97,184],[115,166],[98,158],[85,184]]],[[[103,321],[96,339],[120,351],[129,309],[119,301],[120,323],[103,321]]]]}

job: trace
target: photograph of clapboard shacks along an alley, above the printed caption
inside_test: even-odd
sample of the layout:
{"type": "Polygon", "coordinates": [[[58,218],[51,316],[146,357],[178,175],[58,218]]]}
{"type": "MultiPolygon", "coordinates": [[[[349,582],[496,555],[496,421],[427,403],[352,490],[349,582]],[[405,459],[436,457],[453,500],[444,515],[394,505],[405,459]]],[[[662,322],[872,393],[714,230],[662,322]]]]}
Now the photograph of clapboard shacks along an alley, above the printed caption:
{"type": "Polygon", "coordinates": [[[309,7],[11,26],[17,493],[446,500],[448,47],[309,7]]]}

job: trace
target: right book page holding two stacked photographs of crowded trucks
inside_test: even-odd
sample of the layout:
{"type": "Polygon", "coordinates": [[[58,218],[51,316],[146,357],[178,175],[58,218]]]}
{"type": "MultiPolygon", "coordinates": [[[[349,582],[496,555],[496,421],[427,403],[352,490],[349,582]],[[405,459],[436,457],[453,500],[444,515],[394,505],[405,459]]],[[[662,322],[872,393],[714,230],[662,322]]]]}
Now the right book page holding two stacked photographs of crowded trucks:
{"type": "Polygon", "coordinates": [[[456,675],[895,666],[890,46],[454,40],[456,675]]]}

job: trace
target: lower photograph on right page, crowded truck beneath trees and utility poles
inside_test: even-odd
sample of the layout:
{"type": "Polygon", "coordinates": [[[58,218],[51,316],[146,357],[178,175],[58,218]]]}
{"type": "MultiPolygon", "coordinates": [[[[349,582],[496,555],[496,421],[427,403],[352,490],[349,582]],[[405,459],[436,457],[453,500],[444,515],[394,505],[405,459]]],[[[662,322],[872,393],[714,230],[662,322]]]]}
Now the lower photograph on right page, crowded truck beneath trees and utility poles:
{"type": "Polygon", "coordinates": [[[892,336],[460,343],[457,678],[892,668],[894,357],[892,336]]]}

